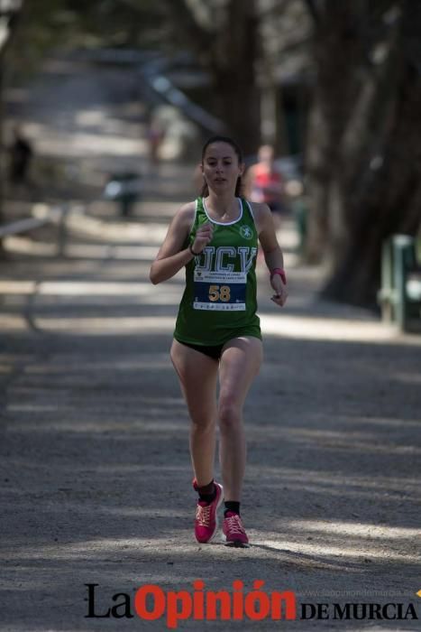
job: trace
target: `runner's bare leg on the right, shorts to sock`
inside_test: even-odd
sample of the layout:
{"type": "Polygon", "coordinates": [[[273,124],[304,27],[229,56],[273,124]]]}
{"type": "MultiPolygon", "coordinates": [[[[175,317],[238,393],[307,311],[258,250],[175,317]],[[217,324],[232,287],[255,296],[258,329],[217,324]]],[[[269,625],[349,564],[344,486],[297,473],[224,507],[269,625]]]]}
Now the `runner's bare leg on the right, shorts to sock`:
{"type": "Polygon", "coordinates": [[[263,356],[258,338],[235,338],[224,347],[220,363],[219,457],[225,500],[240,501],[246,459],[243,431],[243,404],[259,373],[263,356]]]}

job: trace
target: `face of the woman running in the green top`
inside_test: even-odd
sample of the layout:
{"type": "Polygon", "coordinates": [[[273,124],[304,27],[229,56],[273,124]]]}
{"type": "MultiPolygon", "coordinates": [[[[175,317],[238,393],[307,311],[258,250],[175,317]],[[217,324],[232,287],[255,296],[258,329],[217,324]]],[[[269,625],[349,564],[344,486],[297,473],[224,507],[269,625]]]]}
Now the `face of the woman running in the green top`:
{"type": "Polygon", "coordinates": [[[238,162],[231,144],[223,142],[210,144],[206,148],[201,166],[207,186],[215,193],[235,191],[237,179],[244,171],[244,165],[238,162]]]}

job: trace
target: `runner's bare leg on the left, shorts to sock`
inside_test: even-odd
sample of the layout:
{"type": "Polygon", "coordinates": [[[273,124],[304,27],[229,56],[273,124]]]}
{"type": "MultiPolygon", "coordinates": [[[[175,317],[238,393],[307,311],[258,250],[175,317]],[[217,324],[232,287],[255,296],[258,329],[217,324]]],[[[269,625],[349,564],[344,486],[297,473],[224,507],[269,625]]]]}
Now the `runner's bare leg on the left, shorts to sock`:
{"type": "Polygon", "coordinates": [[[190,414],[190,456],[199,487],[214,478],[218,362],[174,340],[171,360],[190,414]]]}

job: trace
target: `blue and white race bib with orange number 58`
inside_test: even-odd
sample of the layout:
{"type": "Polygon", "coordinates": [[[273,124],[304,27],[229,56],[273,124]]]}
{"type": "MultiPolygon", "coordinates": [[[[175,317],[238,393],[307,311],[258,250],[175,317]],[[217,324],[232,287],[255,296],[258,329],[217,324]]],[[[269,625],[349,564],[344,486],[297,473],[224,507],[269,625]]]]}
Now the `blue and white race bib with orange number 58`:
{"type": "Polygon", "coordinates": [[[245,311],[245,272],[195,270],[195,310],[245,311]]]}

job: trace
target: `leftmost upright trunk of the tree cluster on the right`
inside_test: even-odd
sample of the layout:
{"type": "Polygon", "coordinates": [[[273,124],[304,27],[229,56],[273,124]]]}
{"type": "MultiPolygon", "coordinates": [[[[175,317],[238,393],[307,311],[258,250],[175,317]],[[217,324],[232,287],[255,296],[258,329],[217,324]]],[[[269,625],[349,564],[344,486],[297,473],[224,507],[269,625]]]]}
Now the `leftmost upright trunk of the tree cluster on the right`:
{"type": "Polygon", "coordinates": [[[363,56],[357,28],[360,3],[331,3],[317,14],[313,41],[316,86],[307,127],[309,199],[306,256],[321,262],[330,240],[329,209],[334,165],[357,91],[355,64],[363,56]]]}

